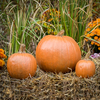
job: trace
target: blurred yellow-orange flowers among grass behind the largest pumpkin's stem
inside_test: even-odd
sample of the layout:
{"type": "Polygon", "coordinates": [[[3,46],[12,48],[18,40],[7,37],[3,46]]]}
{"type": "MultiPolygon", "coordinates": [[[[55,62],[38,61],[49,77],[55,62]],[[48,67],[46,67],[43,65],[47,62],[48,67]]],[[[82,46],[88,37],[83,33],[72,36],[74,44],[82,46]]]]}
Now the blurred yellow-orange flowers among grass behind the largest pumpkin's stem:
{"type": "Polygon", "coordinates": [[[57,9],[47,9],[41,17],[43,22],[43,26],[45,27],[44,31],[46,31],[48,34],[57,34],[57,32],[52,27],[54,24],[56,24],[56,27],[61,27],[61,24],[57,26],[57,23],[60,23],[60,11],[57,9]]]}

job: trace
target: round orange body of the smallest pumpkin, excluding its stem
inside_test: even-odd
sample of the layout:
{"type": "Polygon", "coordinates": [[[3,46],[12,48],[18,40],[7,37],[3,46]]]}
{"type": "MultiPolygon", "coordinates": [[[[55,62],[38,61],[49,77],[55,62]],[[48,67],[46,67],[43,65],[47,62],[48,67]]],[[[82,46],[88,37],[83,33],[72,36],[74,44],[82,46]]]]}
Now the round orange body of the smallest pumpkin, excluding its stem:
{"type": "Polygon", "coordinates": [[[91,77],[95,74],[95,64],[91,60],[83,59],[77,62],[75,72],[78,77],[91,77]]]}

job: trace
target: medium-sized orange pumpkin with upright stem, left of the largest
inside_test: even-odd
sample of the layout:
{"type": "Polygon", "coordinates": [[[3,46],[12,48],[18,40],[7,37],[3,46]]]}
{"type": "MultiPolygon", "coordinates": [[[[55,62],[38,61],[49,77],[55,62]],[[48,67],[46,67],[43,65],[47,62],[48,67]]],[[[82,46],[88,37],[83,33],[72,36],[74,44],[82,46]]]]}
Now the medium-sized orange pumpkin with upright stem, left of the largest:
{"type": "Polygon", "coordinates": [[[18,53],[14,53],[8,58],[7,70],[13,78],[25,79],[28,76],[34,76],[36,69],[36,60],[33,55],[25,53],[24,44],[21,44],[18,53]]]}

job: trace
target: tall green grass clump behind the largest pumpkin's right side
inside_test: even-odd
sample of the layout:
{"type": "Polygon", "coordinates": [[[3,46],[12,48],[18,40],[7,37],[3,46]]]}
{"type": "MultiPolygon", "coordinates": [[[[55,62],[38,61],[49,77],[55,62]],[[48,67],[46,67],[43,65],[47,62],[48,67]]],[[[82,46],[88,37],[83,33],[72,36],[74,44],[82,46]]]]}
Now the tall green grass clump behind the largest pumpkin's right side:
{"type": "Polygon", "coordinates": [[[59,0],[61,12],[61,23],[65,30],[65,35],[71,36],[77,42],[81,41],[84,34],[86,22],[91,14],[88,0],[59,0]]]}

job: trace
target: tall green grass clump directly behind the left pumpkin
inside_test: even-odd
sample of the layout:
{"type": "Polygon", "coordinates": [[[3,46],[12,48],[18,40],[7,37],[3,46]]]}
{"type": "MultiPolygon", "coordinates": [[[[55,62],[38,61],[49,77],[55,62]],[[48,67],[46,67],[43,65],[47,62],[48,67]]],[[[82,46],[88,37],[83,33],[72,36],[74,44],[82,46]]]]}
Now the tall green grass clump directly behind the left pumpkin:
{"type": "Polygon", "coordinates": [[[28,1],[9,2],[5,8],[10,33],[9,55],[18,52],[21,43],[24,43],[28,49],[32,40],[37,43],[40,39],[34,27],[37,24],[35,19],[37,1],[28,1]]]}

